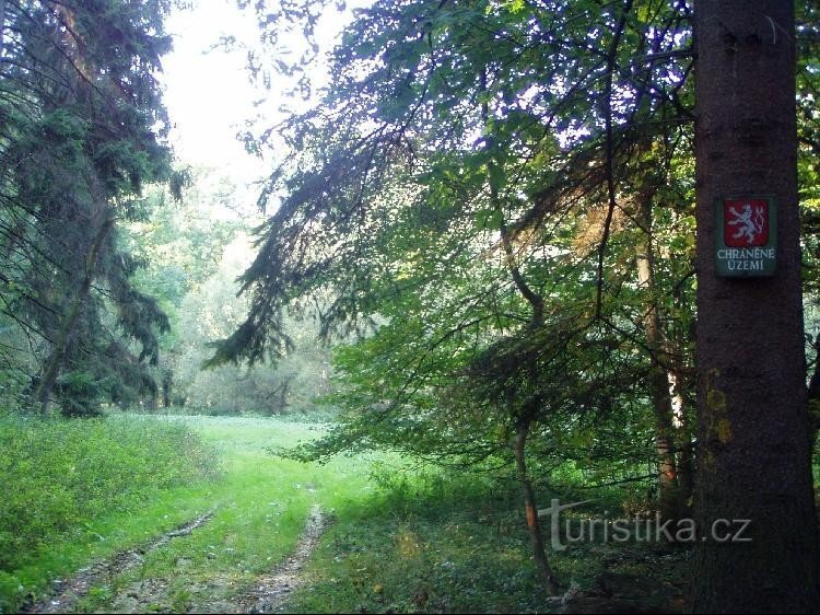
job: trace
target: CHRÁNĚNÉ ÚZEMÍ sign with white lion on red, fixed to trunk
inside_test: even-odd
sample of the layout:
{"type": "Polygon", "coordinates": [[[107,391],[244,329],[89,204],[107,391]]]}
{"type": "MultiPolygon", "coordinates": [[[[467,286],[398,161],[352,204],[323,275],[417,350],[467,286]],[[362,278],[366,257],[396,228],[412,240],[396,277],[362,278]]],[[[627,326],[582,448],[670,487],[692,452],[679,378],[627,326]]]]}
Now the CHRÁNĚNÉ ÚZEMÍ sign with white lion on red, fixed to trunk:
{"type": "Polygon", "coordinates": [[[777,207],[772,197],[727,197],[716,208],[717,275],[772,276],[777,254],[777,207]]]}

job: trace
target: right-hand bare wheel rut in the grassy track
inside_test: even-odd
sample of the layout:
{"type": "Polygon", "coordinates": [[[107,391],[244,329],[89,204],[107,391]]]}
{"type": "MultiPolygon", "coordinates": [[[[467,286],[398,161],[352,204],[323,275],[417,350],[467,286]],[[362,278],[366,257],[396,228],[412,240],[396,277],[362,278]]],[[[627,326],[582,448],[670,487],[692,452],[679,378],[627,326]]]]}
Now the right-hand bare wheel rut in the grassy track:
{"type": "Polygon", "coordinates": [[[237,613],[277,613],[298,588],[304,579],[302,569],[319,544],[328,519],[318,504],[314,504],[307,518],[302,537],[288,559],[271,572],[258,577],[245,595],[237,600],[237,613]]]}

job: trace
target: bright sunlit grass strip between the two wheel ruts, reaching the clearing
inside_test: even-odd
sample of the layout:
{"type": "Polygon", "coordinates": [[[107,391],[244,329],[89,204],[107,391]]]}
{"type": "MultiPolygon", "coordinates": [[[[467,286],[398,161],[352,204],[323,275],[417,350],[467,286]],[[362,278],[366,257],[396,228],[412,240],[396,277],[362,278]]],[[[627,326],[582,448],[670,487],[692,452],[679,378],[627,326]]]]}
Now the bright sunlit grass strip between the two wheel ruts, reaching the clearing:
{"type": "MultiPolygon", "coordinates": [[[[225,417],[186,421],[224,459],[224,476],[211,495],[216,514],[191,535],[149,554],[139,570],[119,581],[171,579],[168,591],[160,596],[164,607],[177,611],[185,603],[196,610],[229,600],[290,553],[314,502],[330,510],[368,489],[366,462],[318,466],[267,452],[268,446],[312,437],[305,423],[225,417]]],[[[81,606],[93,608],[104,602],[81,606]]]]}

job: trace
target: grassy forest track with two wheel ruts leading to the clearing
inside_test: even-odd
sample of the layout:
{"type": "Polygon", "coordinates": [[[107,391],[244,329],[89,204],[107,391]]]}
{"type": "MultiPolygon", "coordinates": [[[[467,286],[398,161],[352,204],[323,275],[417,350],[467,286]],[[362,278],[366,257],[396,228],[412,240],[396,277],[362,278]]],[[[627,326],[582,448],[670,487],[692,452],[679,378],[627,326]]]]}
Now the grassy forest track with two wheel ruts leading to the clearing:
{"type": "MultiPolygon", "coordinates": [[[[174,420],[188,425],[212,448],[218,474],[202,484],[171,488],[162,500],[132,511],[127,529],[115,518],[109,530],[83,538],[95,546],[97,538],[117,544],[131,536],[120,543],[121,550],[103,560],[82,562],[78,557],[77,567],[62,571],[63,581],[54,583],[49,595],[43,597],[39,590],[27,613],[288,608],[295,588],[307,579],[305,562],[331,513],[371,492],[367,459],[319,465],[271,454],[271,449],[320,437],[327,429],[324,423],[260,417],[174,420]],[[208,510],[215,512],[197,517],[208,510]],[[186,520],[178,517],[181,511],[189,511],[188,523],[164,531],[167,514],[186,520]]],[[[73,548],[87,547],[83,542],[73,548]]]]}

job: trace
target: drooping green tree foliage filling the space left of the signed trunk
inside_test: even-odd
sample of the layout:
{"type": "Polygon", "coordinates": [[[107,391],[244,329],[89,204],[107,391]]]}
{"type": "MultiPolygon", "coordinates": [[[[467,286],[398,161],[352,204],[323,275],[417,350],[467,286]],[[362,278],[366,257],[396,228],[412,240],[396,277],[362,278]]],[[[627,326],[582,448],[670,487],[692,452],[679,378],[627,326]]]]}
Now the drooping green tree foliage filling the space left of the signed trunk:
{"type": "Polygon", "coordinates": [[[332,297],[321,333],[356,344],[336,355],[341,425],[312,454],[508,463],[526,419],[543,463],[604,468],[619,421],[634,426],[619,441],[630,462],[652,459],[652,365],[691,384],[693,169],[676,165],[691,161],[688,11],[360,12],[319,106],[281,128],[297,153],[262,195],[283,199],[242,278],[248,315],[211,362],[278,359],[285,314],[332,297]],[[614,69],[655,54],[645,71],[614,69]]]}

